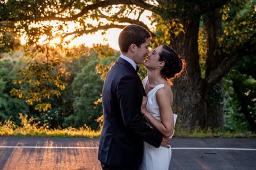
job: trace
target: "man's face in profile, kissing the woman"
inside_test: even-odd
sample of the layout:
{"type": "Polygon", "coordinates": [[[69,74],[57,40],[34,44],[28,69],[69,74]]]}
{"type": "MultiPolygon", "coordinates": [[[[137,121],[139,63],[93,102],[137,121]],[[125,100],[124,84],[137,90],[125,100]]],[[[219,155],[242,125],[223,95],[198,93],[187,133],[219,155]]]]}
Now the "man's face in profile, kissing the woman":
{"type": "Polygon", "coordinates": [[[134,58],[136,64],[140,65],[143,63],[145,56],[148,54],[148,47],[150,47],[150,38],[147,38],[145,43],[136,48],[136,57],[134,58]]]}

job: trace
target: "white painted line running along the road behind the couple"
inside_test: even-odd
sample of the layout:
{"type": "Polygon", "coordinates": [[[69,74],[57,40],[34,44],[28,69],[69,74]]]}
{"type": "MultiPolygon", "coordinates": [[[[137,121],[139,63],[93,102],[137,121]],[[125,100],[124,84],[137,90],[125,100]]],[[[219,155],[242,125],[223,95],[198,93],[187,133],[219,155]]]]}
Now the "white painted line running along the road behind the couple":
{"type": "MultiPolygon", "coordinates": [[[[85,150],[99,149],[99,147],[77,147],[77,146],[0,146],[0,148],[85,149],[85,150]]],[[[172,150],[242,150],[242,151],[256,151],[256,149],[254,149],[254,148],[172,148],[172,150]]]]}

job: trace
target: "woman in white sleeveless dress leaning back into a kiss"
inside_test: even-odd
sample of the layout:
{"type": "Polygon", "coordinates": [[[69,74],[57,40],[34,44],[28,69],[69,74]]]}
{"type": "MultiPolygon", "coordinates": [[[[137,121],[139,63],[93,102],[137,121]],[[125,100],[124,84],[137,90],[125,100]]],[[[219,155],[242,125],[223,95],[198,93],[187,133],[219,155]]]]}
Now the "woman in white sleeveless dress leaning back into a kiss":
{"type": "MultiPolygon", "coordinates": [[[[170,80],[179,75],[184,68],[184,58],[170,47],[161,45],[148,53],[145,60],[147,77],[143,86],[147,98],[143,98],[141,113],[148,121],[148,125],[157,128],[164,137],[171,137],[174,132],[175,120],[172,112],[173,94],[170,80]]],[[[168,170],[172,157],[172,149],[154,148],[144,143],[141,170],[168,170]]]]}

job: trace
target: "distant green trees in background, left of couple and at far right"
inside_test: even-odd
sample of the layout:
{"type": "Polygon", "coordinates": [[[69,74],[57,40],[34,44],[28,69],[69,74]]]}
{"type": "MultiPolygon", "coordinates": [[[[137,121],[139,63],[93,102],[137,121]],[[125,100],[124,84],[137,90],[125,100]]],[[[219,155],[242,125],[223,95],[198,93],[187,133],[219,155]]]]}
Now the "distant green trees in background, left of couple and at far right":
{"type": "MultiPolygon", "coordinates": [[[[49,128],[79,128],[86,125],[92,129],[99,129],[102,121],[99,118],[102,116],[100,95],[103,80],[111,62],[116,61],[120,54],[108,46],[101,45],[100,49],[100,56],[97,48],[90,49],[83,45],[73,49],[63,49],[61,52],[63,61],[59,69],[65,69],[66,72],[61,78],[61,81],[67,84],[65,89],[60,89],[58,97],[51,95],[33,104],[26,102],[26,98],[12,96],[10,93],[13,88],[20,88],[19,83],[13,82],[19,78],[20,70],[26,70],[29,62],[31,63],[29,52],[27,54],[24,50],[18,50],[12,55],[2,55],[3,58],[0,59],[0,121],[3,123],[10,119],[19,125],[19,112],[22,112],[29,117],[33,116],[36,121],[41,122],[41,125],[49,128]],[[102,52],[103,48],[108,52],[102,52]],[[51,104],[51,108],[36,110],[38,103],[51,104]]],[[[42,63],[42,61],[38,62],[42,63]]],[[[225,90],[222,95],[226,100],[224,108],[226,130],[255,131],[255,66],[256,56],[246,56],[223,79],[225,90]]],[[[141,66],[139,73],[143,79],[147,72],[141,66]]],[[[28,91],[29,86],[31,84],[28,82],[24,83],[23,90],[28,91]]],[[[53,89],[53,84],[45,86],[48,86],[49,90],[53,89]]],[[[218,96],[212,93],[211,98],[214,101],[218,96]]]]}

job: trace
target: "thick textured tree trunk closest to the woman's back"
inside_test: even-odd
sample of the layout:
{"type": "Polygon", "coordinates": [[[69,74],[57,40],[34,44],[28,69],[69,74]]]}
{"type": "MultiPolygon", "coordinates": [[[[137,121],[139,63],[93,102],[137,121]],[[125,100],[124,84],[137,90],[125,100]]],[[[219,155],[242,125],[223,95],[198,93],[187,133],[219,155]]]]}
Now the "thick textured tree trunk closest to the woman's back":
{"type": "Polygon", "coordinates": [[[199,22],[184,21],[185,34],[177,36],[172,44],[187,66],[182,75],[173,81],[173,112],[186,128],[204,125],[207,104],[204,100],[204,80],[201,78],[198,57],[199,22]]]}

